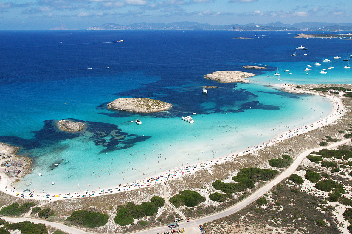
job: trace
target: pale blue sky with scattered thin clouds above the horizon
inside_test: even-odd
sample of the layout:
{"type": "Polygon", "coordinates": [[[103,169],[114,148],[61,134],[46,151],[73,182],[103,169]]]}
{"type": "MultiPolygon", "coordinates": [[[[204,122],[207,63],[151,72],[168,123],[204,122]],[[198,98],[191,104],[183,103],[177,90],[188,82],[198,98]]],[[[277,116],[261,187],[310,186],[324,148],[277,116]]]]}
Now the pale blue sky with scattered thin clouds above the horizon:
{"type": "Polygon", "coordinates": [[[86,30],[107,22],[195,21],[268,24],[352,22],[352,1],[331,0],[10,0],[0,2],[0,30],[86,30]]]}

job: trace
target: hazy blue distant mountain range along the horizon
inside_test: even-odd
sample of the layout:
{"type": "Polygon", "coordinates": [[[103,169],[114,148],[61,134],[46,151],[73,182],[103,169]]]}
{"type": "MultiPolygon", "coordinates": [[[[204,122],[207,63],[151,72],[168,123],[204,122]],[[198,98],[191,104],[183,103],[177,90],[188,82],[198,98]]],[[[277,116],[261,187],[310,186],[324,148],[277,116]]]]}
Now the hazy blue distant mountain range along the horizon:
{"type": "MultiPolygon", "coordinates": [[[[54,28],[52,28],[54,29],[54,28]]],[[[60,29],[60,28],[55,28],[60,29]]],[[[210,25],[197,22],[174,22],[169,24],[158,23],[137,23],[130,25],[119,25],[106,23],[101,26],[89,27],[88,30],[246,30],[246,31],[346,31],[352,30],[352,23],[332,24],[324,22],[302,22],[293,25],[282,22],[271,22],[269,24],[231,24],[231,25],[210,25]]]]}

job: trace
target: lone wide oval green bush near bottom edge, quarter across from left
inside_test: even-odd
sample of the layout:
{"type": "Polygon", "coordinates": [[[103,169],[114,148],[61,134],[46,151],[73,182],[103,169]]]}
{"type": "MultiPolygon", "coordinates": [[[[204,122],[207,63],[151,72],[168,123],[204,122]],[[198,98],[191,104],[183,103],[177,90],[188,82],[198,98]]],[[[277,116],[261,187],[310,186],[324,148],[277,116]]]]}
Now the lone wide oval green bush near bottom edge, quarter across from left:
{"type": "Polygon", "coordinates": [[[108,222],[109,216],[99,212],[90,212],[88,210],[76,210],[70,217],[67,218],[67,221],[73,223],[73,225],[95,228],[106,225],[108,222]]]}

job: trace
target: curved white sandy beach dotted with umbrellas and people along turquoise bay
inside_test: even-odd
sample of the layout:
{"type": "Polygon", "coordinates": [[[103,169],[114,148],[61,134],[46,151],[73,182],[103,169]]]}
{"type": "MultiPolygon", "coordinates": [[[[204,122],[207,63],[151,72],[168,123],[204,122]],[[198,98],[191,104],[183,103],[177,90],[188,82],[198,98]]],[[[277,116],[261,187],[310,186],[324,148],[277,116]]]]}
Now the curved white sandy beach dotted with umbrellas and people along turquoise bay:
{"type": "MultiPolygon", "coordinates": [[[[285,88],[289,92],[296,92],[296,93],[310,93],[317,95],[317,93],[314,92],[309,92],[309,91],[302,91],[302,90],[296,90],[292,89],[288,86],[285,85],[275,85],[277,87],[285,88]]],[[[319,94],[321,95],[321,94],[319,94]]],[[[14,189],[13,187],[10,186],[12,180],[10,180],[5,173],[0,173],[1,180],[0,180],[0,190],[4,193],[10,194],[12,196],[20,196],[20,194],[24,193],[24,198],[26,199],[38,199],[38,200],[61,200],[61,199],[73,199],[73,198],[78,198],[78,197],[89,197],[89,196],[99,196],[99,195],[106,195],[106,194],[112,194],[112,193],[119,193],[122,191],[126,190],[134,190],[138,188],[143,188],[146,186],[152,186],[153,184],[156,183],[164,183],[167,180],[172,180],[174,178],[178,178],[181,176],[184,176],[186,174],[194,173],[197,170],[200,170],[202,168],[207,168],[211,167],[212,165],[216,165],[219,163],[223,163],[229,160],[232,160],[235,157],[242,156],[245,154],[248,154],[249,152],[254,152],[260,149],[263,149],[265,147],[268,147],[270,145],[276,144],[278,142],[281,142],[285,139],[303,134],[304,132],[311,131],[314,129],[318,129],[322,126],[328,125],[336,121],[337,119],[341,118],[345,111],[346,108],[342,103],[342,98],[340,97],[333,97],[329,95],[322,95],[330,100],[330,102],[333,104],[333,108],[331,112],[329,113],[328,116],[320,119],[319,121],[310,123],[308,125],[304,125],[295,129],[290,129],[285,132],[281,132],[277,134],[274,138],[270,139],[267,142],[263,142],[260,145],[255,145],[249,149],[245,149],[242,151],[234,152],[234,153],[229,153],[227,155],[224,155],[220,158],[213,159],[213,160],[207,160],[206,162],[203,163],[197,163],[193,165],[182,165],[181,167],[175,168],[175,169],[170,169],[167,171],[164,171],[163,173],[156,174],[150,177],[147,177],[146,179],[143,180],[138,180],[138,181],[131,181],[126,184],[121,184],[119,186],[114,186],[111,188],[95,188],[93,190],[89,191],[62,191],[61,193],[50,193],[50,189],[45,192],[40,192],[40,191],[26,191],[23,192],[23,190],[17,190],[14,189]],[[49,196],[47,196],[49,194],[49,196]]]]}

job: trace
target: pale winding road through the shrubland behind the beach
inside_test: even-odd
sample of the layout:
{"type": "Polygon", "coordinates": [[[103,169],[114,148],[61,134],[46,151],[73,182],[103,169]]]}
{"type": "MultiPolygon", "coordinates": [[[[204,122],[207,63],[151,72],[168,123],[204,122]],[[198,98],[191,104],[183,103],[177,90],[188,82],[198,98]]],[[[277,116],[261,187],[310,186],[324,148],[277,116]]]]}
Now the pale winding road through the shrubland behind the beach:
{"type": "MultiPolygon", "coordinates": [[[[284,170],[281,174],[279,174],[276,178],[274,178],[270,182],[266,183],[264,186],[260,187],[256,191],[254,191],[251,195],[249,195],[245,199],[241,200],[240,202],[234,204],[233,206],[231,206],[231,207],[229,207],[229,208],[227,208],[225,210],[221,210],[220,212],[217,212],[217,213],[214,213],[214,214],[211,214],[211,215],[207,215],[207,216],[203,216],[203,217],[200,217],[198,219],[193,219],[193,220],[191,220],[188,223],[187,222],[179,223],[180,224],[180,228],[185,228],[186,229],[185,230],[186,234],[200,234],[200,231],[198,229],[198,225],[199,224],[203,224],[205,222],[209,222],[209,221],[212,221],[212,220],[220,219],[222,217],[225,217],[225,216],[228,216],[230,214],[233,214],[233,213],[243,209],[244,207],[248,206],[253,201],[256,201],[257,199],[262,197],[266,192],[268,192],[272,187],[274,187],[275,186],[274,184],[277,184],[277,183],[281,182],[282,180],[284,180],[285,178],[290,176],[292,173],[294,173],[295,170],[297,169],[297,167],[301,164],[302,160],[308,154],[310,154],[310,152],[319,151],[319,150],[324,149],[324,148],[325,149],[331,149],[331,148],[337,147],[338,145],[345,144],[348,141],[351,141],[351,139],[346,139],[346,140],[343,140],[343,141],[335,142],[335,143],[333,143],[331,145],[328,145],[327,147],[318,147],[318,148],[309,149],[307,151],[304,151],[302,154],[300,154],[295,159],[295,161],[286,170],[284,170]]],[[[166,199],[165,199],[165,201],[166,201],[166,199]]],[[[83,231],[81,229],[74,228],[74,227],[68,227],[66,225],[63,225],[62,223],[53,223],[53,222],[48,222],[48,221],[45,221],[45,220],[36,220],[36,219],[30,219],[30,218],[13,218],[13,217],[4,217],[4,219],[7,220],[7,221],[10,221],[10,222],[21,222],[23,220],[28,220],[28,221],[32,221],[34,223],[44,223],[45,225],[50,225],[52,227],[61,229],[64,232],[71,233],[71,234],[87,233],[86,231],[83,231]]],[[[169,230],[168,227],[162,226],[162,227],[144,229],[144,230],[141,230],[141,231],[135,232],[135,233],[156,234],[158,232],[161,233],[161,232],[166,232],[168,230],[169,230]]]]}

